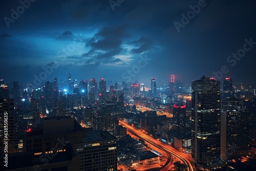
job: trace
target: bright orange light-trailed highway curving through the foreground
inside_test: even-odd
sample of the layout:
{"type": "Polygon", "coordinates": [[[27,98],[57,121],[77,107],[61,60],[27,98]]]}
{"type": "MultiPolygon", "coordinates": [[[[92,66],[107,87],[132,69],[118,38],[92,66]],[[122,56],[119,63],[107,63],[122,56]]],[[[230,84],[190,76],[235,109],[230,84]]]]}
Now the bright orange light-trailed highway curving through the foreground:
{"type": "MultiPolygon", "coordinates": [[[[197,170],[194,163],[191,161],[191,159],[189,159],[189,157],[186,154],[184,154],[183,152],[180,152],[178,149],[175,149],[172,146],[169,146],[151,136],[144,134],[140,130],[137,130],[135,127],[133,127],[132,125],[129,125],[128,123],[122,121],[121,119],[119,120],[119,124],[126,127],[127,132],[130,132],[131,134],[135,134],[137,137],[140,137],[144,141],[146,141],[154,146],[157,146],[158,148],[164,150],[165,152],[168,152],[167,154],[172,154],[172,155],[176,156],[177,158],[179,158],[187,166],[187,170],[189,170],[189,171],[197,170]]],[[[168,156],[168,158],[169,157],[170,156],[168,156]]],[[[170,160],[168,160],[165,163],[165,165],[162,166],[159,170],[165,170],[166,168],[168,168],[169,164],[170,164],[168,162],[170,162],[170,160]]]]}

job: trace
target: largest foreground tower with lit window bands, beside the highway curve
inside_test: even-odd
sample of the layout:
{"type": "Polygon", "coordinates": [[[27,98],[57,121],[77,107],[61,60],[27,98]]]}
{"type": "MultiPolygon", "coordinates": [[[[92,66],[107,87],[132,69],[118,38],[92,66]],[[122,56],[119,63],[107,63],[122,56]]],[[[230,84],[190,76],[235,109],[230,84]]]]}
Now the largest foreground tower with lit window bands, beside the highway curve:
{"type": "Polygon", "coordinates": [[[220,161],[220,81],[201,77],[192,82],[191,151],[198,169],[220,161]]]}

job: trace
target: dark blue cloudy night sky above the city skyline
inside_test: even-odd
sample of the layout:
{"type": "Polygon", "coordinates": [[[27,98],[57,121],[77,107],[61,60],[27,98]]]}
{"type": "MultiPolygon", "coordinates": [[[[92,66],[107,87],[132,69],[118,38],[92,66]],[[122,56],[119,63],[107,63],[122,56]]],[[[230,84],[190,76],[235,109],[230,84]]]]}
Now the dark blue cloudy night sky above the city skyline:
{"type": "Polygon", "coordinates": [[[256,81],[255,1],[33,1],[0,1],[7,81],[256,81]]]}

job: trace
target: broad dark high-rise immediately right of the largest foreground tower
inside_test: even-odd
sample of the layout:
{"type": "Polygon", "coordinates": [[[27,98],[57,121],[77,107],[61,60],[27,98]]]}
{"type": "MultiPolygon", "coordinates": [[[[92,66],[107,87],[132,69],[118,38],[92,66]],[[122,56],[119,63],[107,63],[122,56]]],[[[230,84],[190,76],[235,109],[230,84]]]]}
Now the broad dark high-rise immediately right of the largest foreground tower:
{"type": "Polygon", "coordinates": [[[247,154],[249,149],[249,116],[243,100],[223,99],[221,101],[221,158],[237,158],[247,154]]]}

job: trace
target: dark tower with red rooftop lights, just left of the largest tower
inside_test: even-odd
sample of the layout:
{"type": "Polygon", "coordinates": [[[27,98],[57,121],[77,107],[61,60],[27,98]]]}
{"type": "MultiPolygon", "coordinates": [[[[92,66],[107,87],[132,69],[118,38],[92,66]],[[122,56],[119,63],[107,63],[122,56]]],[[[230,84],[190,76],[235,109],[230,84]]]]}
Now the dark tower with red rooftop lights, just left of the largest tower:
{"type": "Polygon", "coordinates": [[[186,131],[186,105],[173,105],[173,120],[175,131],[179,138],[187,138],[186,131]]]}

